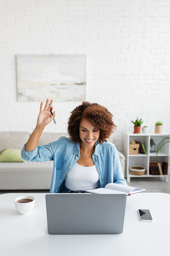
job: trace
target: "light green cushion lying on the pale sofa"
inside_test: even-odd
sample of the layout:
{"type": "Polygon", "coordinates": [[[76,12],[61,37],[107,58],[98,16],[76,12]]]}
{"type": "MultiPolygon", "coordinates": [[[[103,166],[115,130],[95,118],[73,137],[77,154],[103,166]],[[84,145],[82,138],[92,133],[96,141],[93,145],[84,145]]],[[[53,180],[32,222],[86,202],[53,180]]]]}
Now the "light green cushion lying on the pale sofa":
{"type": "Polygon", "coordinates": [[[21,158],[21,150],[6,148],[0,154],[0,162],[24,162],[21,158]]]}

